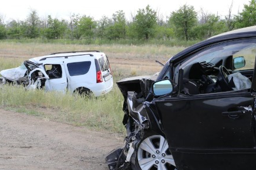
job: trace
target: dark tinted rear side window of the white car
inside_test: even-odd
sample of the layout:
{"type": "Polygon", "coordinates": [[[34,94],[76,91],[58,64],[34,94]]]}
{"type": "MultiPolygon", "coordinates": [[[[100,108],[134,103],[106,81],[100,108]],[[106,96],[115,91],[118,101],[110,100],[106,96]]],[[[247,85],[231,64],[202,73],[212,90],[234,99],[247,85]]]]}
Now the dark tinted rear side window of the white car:
{"type": "Polygon", "coordinates": [[[83,75],[90,70],[90,61],[82,61],[76,63],[68,63],[68,71],[70,76],[83,75]]]}

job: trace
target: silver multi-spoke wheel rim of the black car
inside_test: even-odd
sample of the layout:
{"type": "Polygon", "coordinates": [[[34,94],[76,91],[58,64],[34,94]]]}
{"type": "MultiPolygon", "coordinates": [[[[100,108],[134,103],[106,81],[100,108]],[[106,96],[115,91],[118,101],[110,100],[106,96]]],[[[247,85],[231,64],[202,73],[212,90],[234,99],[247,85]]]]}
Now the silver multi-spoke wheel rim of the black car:
{"type": "Polygon", "coordinates": [[[175,166],[167,140],[160,135],[145,138],[139,145],[137,159],[141,169],[170,169],[175,166]]]}

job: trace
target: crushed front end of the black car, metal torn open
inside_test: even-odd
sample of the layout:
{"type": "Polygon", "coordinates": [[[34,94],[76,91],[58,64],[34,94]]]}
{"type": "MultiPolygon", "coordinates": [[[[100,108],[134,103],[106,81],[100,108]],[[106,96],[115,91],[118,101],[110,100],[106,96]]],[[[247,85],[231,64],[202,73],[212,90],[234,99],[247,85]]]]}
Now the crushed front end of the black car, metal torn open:
{"type": "MultiPolygon", "coordinates": [[[[125,144],[123,148],[113,150],[107,155],[106,163],[109,169],[143,169],[142,167],[146,168],[146,166],[140,166],[140,161],[143,160],[139,157],[143,157],[143,159],[156,157],[149,152],[145,154],[139,148],[143,140],[147,140],[146,137],[150,136],[150,139],[154,137],[153,140],[156,141],[156,145],[159,145],[160,139],[157,139],[157,137],[164,136],[159,116],[156,114],[150,95],[151,84],[156,77],[157,75],[133,77],[117,82],[124,96],[123,124],[126,127],[127,136],[124,138],[125,144]],[[138,156],[137,152],[143,152],[143,154],[140,154],[142,156],[138,156]]],[[[167,158],[168,153],[166,152],[168,151],[164,150],[163,153],[159,151],[159,155],[166,155],[167,158]]],[[[155,162],[157,162],[157,159],[155,162]]]]}

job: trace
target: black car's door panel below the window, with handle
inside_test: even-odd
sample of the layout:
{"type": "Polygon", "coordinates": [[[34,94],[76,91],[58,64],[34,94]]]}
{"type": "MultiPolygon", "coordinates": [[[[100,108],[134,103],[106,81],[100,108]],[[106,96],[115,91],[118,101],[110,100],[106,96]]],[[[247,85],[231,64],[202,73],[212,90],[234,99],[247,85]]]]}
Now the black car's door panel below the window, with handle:
{"type": "Polygon", "coordinates": [[[250,92],[156,101],[177,169],[255,169],[250,92]]]}

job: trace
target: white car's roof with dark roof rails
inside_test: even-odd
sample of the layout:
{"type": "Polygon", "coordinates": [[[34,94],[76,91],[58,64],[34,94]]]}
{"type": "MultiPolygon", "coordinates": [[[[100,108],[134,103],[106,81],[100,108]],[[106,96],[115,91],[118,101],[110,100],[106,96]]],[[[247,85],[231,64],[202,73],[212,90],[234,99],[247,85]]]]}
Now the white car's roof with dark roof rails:
{"type": "Polygon", "coordinates": [[[30,61],[33,61],[34,63],[42,63],[43,61],[47,60],[63,60],[64,58],[70,58],[70,57],[94,57],[96,59],[99,59],[100,57],[106,56],[105,53],[101,53],[100,51],[69,51],[69,52],[62,52],[62,53],[53,53],[49,55],[43,55],[40,57],[35,57],[29,59],[30,61]]]}

